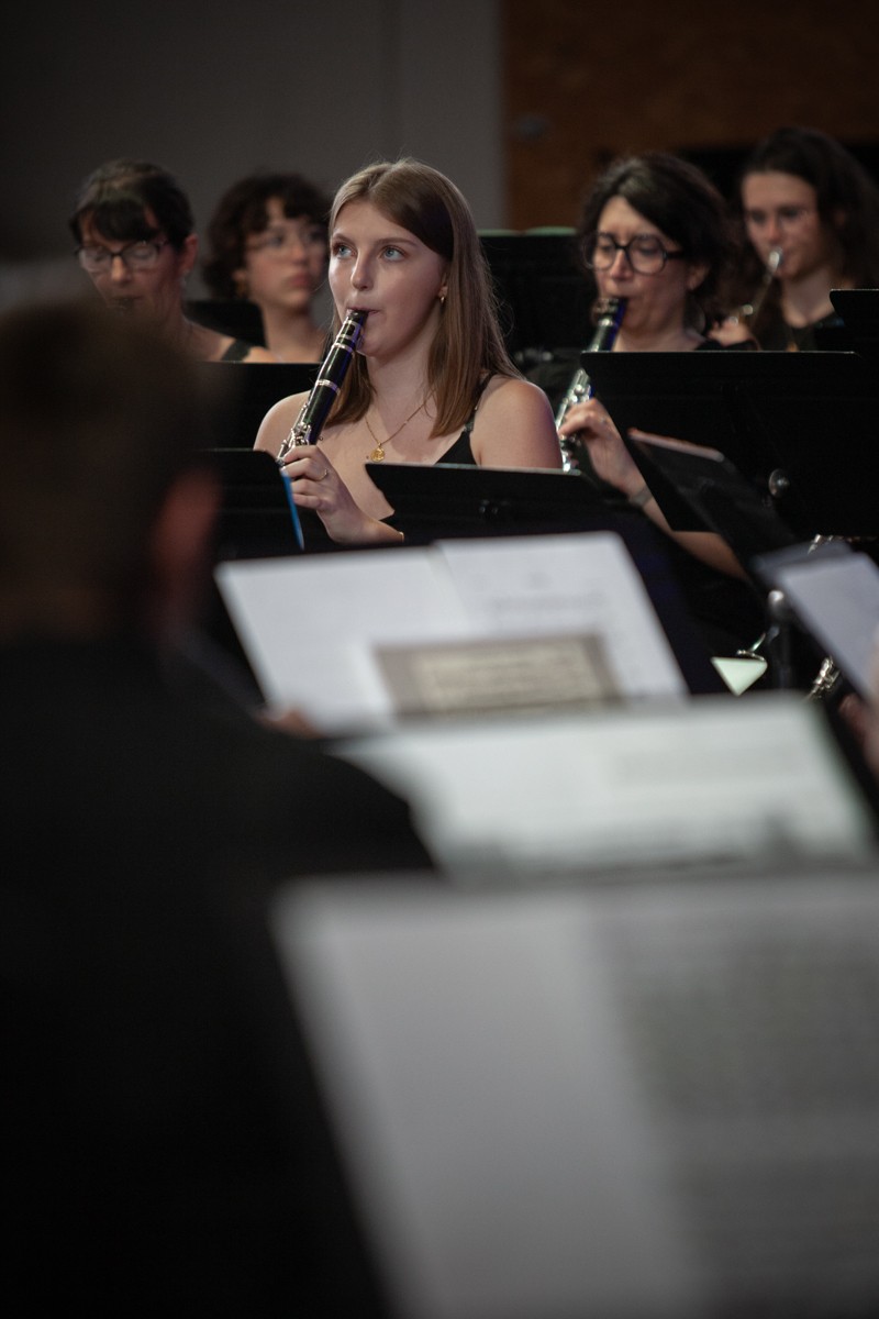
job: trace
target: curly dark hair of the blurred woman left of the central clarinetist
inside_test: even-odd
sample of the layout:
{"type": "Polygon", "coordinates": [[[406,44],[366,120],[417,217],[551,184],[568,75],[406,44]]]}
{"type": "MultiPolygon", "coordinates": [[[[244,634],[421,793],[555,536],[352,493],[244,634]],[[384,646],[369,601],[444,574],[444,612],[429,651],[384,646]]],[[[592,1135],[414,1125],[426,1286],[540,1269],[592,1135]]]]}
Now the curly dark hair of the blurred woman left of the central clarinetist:
{"type": "Polygon", "coordinates": [[[207,227],[208,255],[202,274],[215,298],[237,295],[235,272],[244,265],[248,237],[268,227],[271,198],[281,202],[287,219],[304,215],[327,228],[329,198],[302,174],[261,171],[239,179],[223,194],[207,227]]]}

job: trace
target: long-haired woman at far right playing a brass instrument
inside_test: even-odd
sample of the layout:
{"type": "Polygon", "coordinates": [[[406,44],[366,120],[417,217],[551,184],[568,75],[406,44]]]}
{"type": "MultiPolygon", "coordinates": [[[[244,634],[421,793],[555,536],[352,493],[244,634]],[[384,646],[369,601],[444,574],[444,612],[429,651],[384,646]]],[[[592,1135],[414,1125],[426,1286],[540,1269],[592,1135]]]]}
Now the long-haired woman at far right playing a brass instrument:
{"type": "Polygon", "coordinates": [[[830,289],[879,285],[879,187],[826,133],[779,128],[759,142],[738,208],[747,251],[730,305],[760,347],[818,347],[816,331],[839,323],[830,289]]]}

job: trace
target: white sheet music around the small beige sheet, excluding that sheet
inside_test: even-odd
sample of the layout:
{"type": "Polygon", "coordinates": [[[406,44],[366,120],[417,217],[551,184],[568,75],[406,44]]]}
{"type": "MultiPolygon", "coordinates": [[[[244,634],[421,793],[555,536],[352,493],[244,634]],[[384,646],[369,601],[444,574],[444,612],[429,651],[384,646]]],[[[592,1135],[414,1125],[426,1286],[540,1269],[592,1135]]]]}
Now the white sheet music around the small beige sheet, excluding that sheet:
{"type": "Polygon", "coordinates": [[[270,707],[297,707],[329,733],[393,723],[377,660],[393,645],[593,636],[623,696],[687,694],[610,533],[233,562],[216,576],[270,707]]]}

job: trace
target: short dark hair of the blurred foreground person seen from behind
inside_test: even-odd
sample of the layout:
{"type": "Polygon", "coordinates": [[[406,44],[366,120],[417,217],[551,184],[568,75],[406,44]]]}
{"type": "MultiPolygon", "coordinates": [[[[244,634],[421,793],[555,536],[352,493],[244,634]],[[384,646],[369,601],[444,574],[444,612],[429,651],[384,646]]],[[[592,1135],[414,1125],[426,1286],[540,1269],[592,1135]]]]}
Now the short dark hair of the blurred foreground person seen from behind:
{"type": "Polygon", "coordinates": [[[136,616],[163,497],[210,446],[198,364],[91,299],[0,315],[0,588],[98,588],[136,616]]]}

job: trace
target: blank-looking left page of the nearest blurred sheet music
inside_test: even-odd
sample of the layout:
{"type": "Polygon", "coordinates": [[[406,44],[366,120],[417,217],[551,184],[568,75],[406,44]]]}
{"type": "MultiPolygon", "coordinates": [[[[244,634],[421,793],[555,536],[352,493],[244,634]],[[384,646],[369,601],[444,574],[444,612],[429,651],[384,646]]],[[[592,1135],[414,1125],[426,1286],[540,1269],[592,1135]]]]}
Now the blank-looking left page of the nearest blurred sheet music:
{"type": "Polygon", "coordinates": [[[698,1315],[576,901],[498,919],[448,890],[365,893],[297,885],[271,925],[393,1314],[698,1315]]]}

